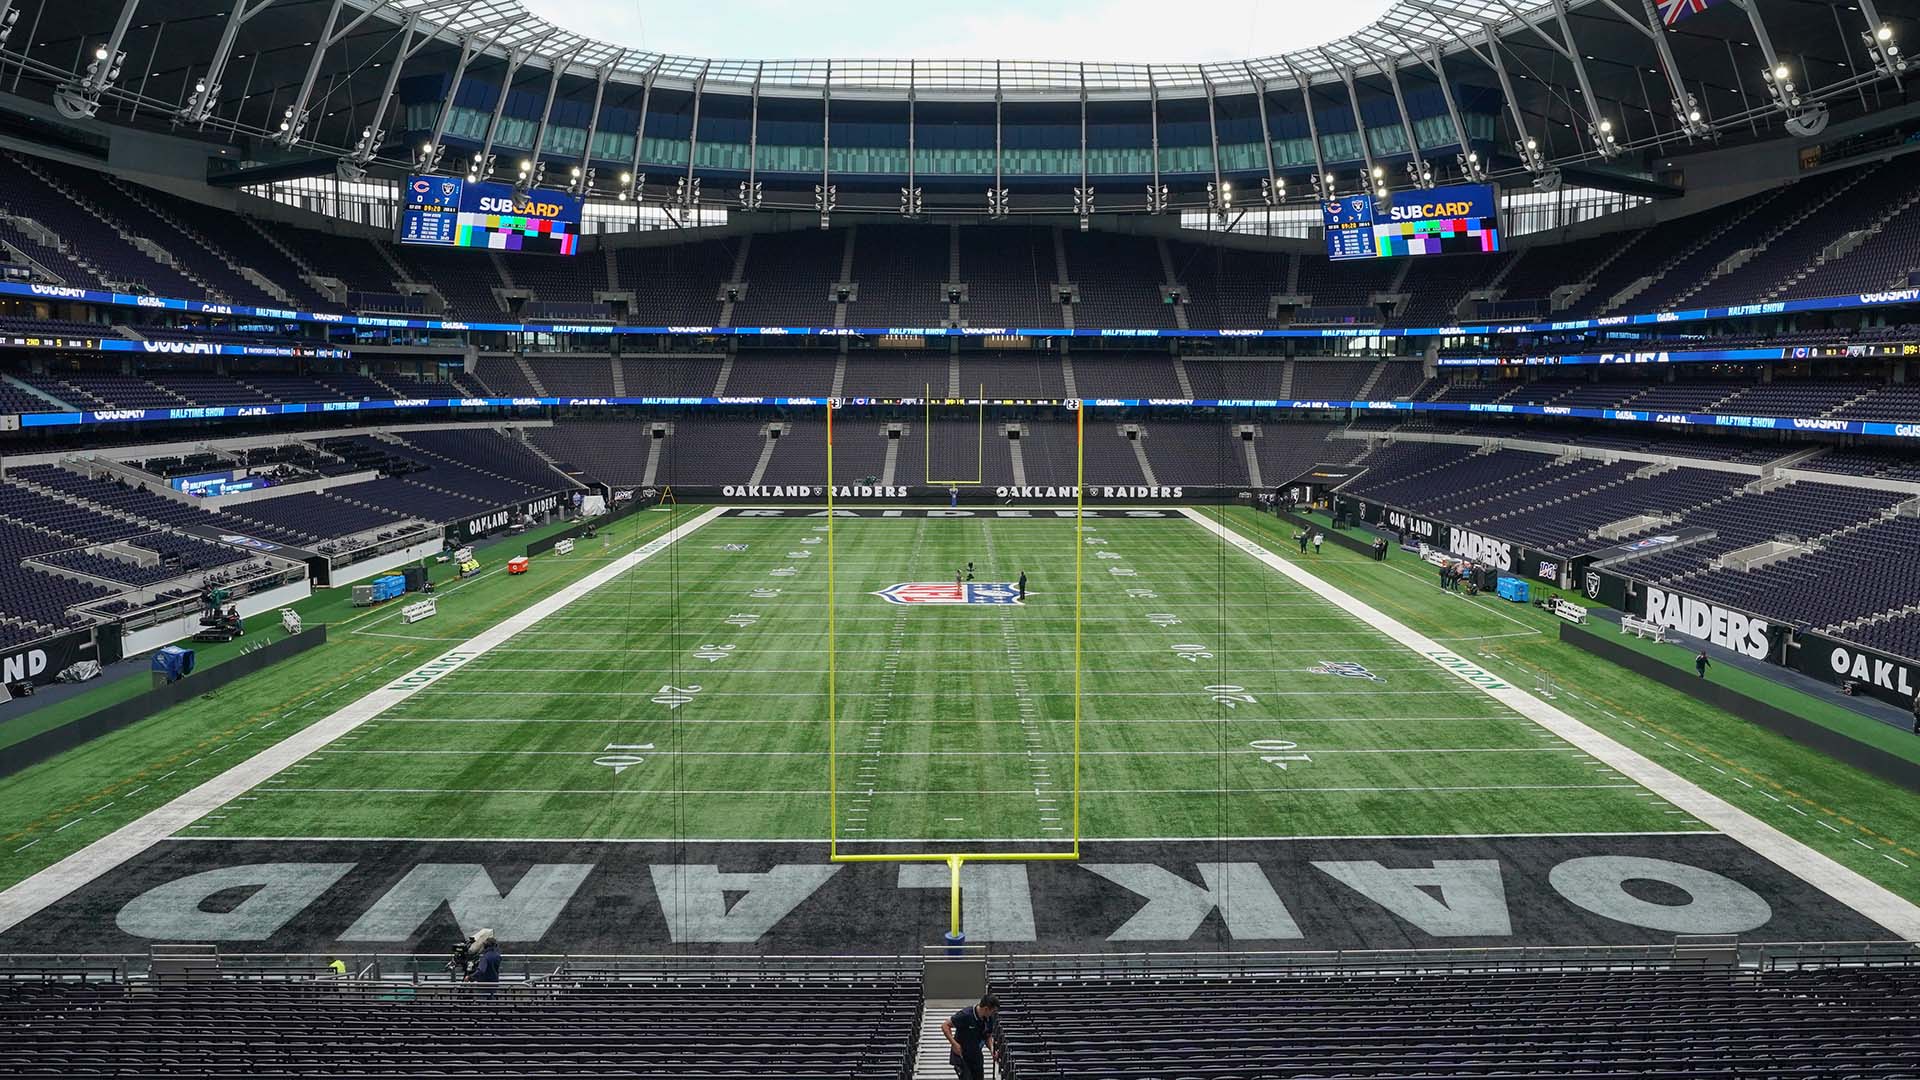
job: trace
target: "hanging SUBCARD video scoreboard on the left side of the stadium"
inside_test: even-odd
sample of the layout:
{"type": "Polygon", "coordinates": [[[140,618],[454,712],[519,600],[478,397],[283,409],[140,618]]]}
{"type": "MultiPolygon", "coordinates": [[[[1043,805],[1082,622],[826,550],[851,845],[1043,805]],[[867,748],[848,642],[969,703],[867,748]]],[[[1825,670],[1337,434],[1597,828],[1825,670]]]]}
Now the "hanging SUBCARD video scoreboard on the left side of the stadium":
{"type": "Polygon", "coordinates": [[[490,181],[407,177],[399,242],[572,256],[580,250],[580,200],[553,190],[520,196],[490,181]]]}

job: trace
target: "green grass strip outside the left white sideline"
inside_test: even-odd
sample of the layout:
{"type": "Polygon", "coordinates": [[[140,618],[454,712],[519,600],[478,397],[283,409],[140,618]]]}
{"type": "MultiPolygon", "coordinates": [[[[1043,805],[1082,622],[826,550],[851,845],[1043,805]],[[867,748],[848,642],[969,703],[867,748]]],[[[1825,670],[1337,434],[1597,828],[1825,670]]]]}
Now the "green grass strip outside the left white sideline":
{"type": "Polygon", "coordinates": [[[217,776],[449,644],[428,636],[467,640],[657,536],[674,517],[637,513],[605,528],[597,544],[582,542],[572,555],[536,559],[536,571],[524,577],[503,573],[505,557],[516,550],[505,542],[493,553],[482,552],[488,569],[467,582],[447,582],[453,571],[436,567],[440,615],[415,625],[411,636],[390,636],[399,626],[394,605],[351,609],[348,590],[307,601],[309,609],[334,609],[324,648],[0,778],[0,886],[217,776]]]}

